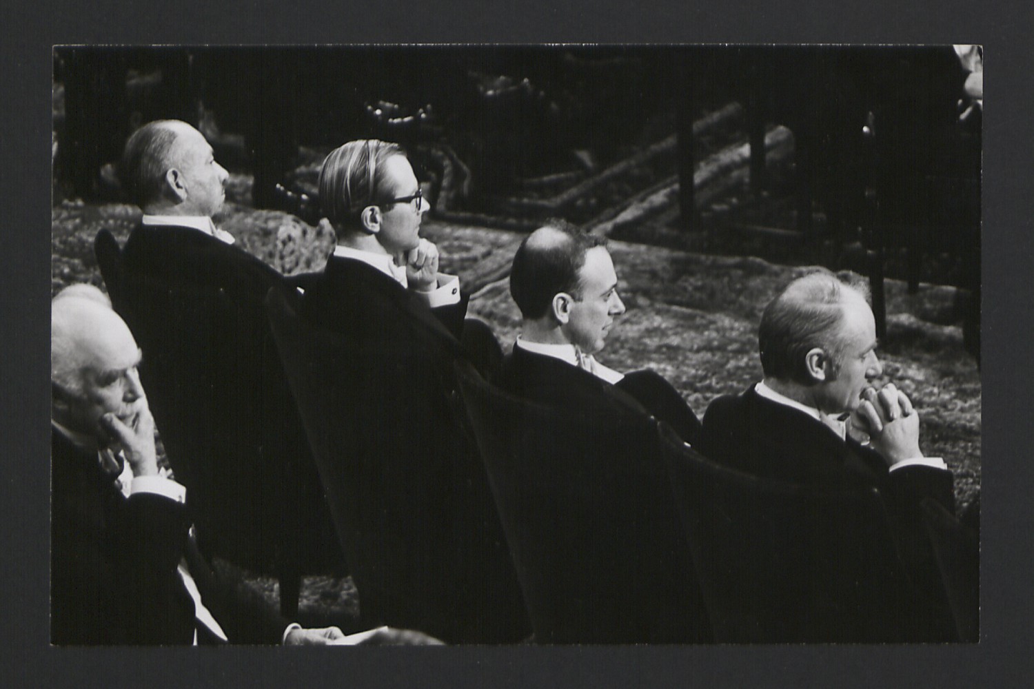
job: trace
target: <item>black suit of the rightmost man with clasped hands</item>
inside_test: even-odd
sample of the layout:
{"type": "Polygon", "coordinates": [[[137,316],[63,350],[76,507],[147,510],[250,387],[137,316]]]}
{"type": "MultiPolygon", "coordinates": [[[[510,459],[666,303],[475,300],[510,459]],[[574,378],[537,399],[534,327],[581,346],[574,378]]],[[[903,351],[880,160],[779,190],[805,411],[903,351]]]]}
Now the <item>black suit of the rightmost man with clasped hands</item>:
{"type": "Polygon", "coordinates": [[[758,395],[720,397],[708,406],[701,452],[756,476],[815,487],[816,490],[876,488],[883,496],[899,557],[915,585],[920,613],[946,614],[940,575],[922,524],[921,502],[931,498],[953,512],[950,471],[909,466],[889,471],[876,450],[831,429],[803,411],[758,395]]]}

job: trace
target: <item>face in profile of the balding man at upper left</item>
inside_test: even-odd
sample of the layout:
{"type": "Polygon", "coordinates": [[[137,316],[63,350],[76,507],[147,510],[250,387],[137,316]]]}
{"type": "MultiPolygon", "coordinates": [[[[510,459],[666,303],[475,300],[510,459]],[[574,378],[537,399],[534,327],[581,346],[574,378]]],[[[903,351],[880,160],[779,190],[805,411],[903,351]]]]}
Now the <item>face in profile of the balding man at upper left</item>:
{"type": "Polygon", "coordinates": [[[176,134],[170,162],[184,194],[180,211],[211,217],[222,209],[230,174],[215,162],[212,147],[200,131],[181,123],[176,125],[176,134]]]}

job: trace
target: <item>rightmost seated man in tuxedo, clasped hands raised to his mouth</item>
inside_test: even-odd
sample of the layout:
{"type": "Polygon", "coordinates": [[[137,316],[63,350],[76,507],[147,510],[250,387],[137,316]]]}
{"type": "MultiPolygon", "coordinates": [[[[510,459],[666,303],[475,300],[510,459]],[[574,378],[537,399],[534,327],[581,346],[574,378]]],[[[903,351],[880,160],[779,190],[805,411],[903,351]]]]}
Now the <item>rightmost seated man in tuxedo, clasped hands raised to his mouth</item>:
{"type": "Polygon", "coordinates": [[[711,402],[698,449],[766,478],[879,489],[902,561],[920,588],[936,588],[920,502],[932,498],[953,512],[952,475],[920,450],[908,397],[893,383],[872,386],[883,368],[866,296],[864,283],[828,271],[791,282],[761,316],[764,379],[711,402]]]}

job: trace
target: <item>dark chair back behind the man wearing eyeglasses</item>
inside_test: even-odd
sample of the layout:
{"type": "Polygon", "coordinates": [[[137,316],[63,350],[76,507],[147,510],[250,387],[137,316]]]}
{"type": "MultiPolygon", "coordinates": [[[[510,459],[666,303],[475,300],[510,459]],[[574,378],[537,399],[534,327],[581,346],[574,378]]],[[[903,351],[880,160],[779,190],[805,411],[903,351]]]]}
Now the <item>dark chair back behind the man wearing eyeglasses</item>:
{"type": "Polygon", "coordinates": [[[449,643],[525,638],[516,573],[449,381],[415,369],[420,357],[378,355],[368,324],[355,334],[309,322],[291,290],[271,289],[267,307],[363,623],[449,643]],[[400,374],[408,387],[389,382],[400,374]]]}

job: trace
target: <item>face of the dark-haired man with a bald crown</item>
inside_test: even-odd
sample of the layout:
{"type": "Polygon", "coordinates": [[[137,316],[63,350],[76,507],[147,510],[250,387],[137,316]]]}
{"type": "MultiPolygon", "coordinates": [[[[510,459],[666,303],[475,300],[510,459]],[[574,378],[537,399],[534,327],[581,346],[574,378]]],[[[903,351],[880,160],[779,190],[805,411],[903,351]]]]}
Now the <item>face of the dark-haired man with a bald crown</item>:
{"type": "Polygon", "coordinates": [[[625,303],[617,295],[617,274],[606,248],[592,247],[585,252],[585,263],[578,277],[578,299],[571,295],[572,300],[566,307],[554,308],[566,311],[559,317],[560,332],[568,342],[586,354],[592,354],[603,349],[614,317],[625,313],[625,303]],[[567,322],[564,322],[565,318],[567,322]]]}

